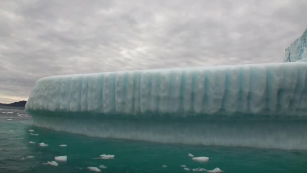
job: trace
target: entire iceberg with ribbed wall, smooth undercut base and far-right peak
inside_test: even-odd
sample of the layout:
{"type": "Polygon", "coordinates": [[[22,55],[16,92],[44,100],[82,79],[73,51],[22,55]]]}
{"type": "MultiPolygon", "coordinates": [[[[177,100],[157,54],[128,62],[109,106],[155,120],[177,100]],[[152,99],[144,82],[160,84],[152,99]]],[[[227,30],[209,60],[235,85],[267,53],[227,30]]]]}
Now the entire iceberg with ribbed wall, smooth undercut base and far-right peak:
{"type": "Polygon", "coordinates": [[[307,150],[307,32],[273,63],[52,76],[33,124],[92,137],[307,150]]]}

